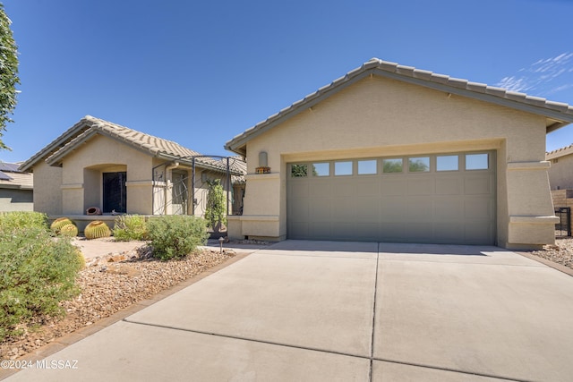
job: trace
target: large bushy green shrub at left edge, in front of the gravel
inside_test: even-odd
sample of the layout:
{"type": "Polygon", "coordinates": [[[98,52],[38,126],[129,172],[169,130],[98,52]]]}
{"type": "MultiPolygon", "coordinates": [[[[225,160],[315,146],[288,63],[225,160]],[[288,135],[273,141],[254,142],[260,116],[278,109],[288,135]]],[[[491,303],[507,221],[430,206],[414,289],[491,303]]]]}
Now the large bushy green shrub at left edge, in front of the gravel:
{"type": "Polygon", "coordinates": [[[25,229],[0,229],[0,342],[19,335],[22,323],[64,315],[59,302],[80,292],[77,248],[69,238],[54,239],[38,220],[29,222],[25,229]]]}

